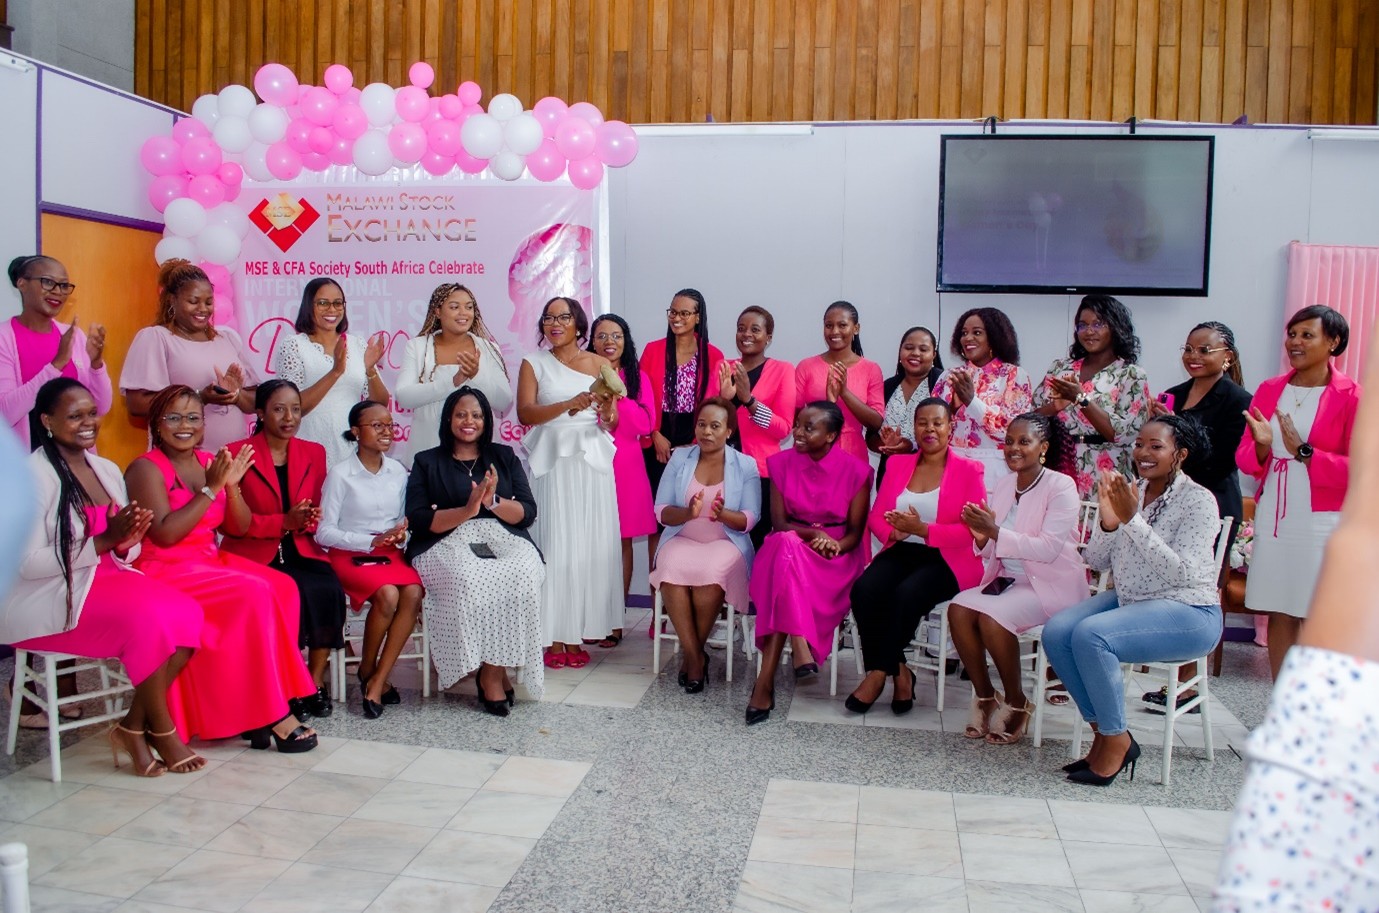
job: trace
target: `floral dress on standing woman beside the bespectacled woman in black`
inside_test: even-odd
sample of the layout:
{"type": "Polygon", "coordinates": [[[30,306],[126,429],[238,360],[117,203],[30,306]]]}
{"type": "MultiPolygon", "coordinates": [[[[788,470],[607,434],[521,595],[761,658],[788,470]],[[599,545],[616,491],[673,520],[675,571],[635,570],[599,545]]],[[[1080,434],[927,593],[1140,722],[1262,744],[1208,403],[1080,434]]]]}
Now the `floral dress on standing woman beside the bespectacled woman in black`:
{"type": "MultiPolygon", "coordinates": [[[[1034,389],[1034,408],[1047,405],[1054,396],[1048,378],[1081,377],[1081,359],[1058,359],[1048,367],[1044,382],[1034,389]]],[[[1131,445],[1139,426],[1149,415],[1149,374],[1138,364],[1116,359],[1083,383],[1083,392],[1105,410],[1116,430],[1116,439],[1106,441],[1102,433],[1076,405],[1069,405],[1058,414],[1067,433],[1077,440],[1077,494],[1085,501],[1096,488],[1096,476],[1105,469],[1114,469],[1123,476],[1135,479],[1131,461],[1131,445]],[[1092,441],[1084,440],[1092,437],[1092,441]],[[1100,443],[1098,443],[1100,441],[1100,443]]]]}

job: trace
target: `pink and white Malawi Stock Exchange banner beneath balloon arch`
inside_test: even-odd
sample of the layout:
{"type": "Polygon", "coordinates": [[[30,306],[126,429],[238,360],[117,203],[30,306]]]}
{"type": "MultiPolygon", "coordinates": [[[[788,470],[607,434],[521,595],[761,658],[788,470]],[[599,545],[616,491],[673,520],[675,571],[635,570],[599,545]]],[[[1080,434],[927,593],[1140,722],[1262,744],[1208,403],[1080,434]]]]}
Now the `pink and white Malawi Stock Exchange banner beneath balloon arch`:
{"type": "MultiPolygon", "coordinates": [[[[592,314],[601,258],[597,190],[570,185],[255,183],[236,201],[255,226],[234,274],[233,324],[254,353],[254,370],[273,375],[274,348],[296,331],[302,288],[330,276],[345,290],[349,334],[386,335],[379,372],[396,390],[407,341],[421,331],[432,291],[461,283],[479,302],[503,352],[513,389],[521,357],[536,348],[541,309],[556,295],[592,314]]],[[[411,411],[390,404],[411,436],[411,411]]],[[[495,417],[494,439],[516,444],[516,407],[495,417]]],[[[520,450],[520,448],[519,448],[520,450]]]]}

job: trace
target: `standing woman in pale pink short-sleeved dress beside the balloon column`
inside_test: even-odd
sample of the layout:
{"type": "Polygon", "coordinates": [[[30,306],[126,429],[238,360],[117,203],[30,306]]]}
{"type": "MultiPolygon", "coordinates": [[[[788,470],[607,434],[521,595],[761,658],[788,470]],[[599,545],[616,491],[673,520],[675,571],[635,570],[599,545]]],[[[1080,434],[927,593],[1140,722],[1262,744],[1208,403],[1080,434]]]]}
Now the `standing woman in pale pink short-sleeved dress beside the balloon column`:
{"type": "Polygon", "coordinates": [[[159,269],[157,323],[134,335],[120,371],[120,392],[135,418],[148,418],[159,390],[192,388],[205,404],[204,441],[212,452],[244,437],[258,383],[244,341],[229,327],[217,328],[205,272],[185,259],[167,261],[159,269]]]}

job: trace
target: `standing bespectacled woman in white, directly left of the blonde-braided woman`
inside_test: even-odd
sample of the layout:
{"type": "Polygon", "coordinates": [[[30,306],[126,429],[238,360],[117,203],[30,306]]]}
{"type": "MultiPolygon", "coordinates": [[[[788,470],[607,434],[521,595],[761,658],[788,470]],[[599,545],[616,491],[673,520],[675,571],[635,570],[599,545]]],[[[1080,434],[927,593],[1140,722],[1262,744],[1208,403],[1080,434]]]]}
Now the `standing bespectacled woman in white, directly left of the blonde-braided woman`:
{"type": "Polygon", "coordinates": [[[273,372],[302,392],[296,436],[324,447],[325,468],[331,469],[354,455],[342,437],[354,404],[364,399],[387,403],[387,388],[378,375],[383,337],[364,345],[359,337],[346,335],[345,291],[330,276],[306,283],[295,330],[295,337],[277,343],[273,372]]]}

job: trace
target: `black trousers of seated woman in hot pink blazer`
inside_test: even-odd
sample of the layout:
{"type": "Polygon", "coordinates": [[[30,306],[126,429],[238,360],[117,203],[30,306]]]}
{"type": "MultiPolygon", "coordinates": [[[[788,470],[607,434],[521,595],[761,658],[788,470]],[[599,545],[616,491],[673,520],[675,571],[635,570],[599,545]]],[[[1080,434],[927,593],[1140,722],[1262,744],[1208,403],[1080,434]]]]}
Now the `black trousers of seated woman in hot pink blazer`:
{"type": "Polygon", "coordinates": [[[852,618],[866,670],[899,674],[920,619],[957,590],[957,578],[932,546],[896,542],[877,554],[852,585],[852,618]]]}

